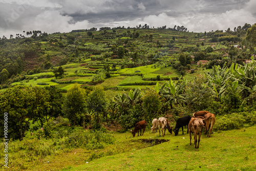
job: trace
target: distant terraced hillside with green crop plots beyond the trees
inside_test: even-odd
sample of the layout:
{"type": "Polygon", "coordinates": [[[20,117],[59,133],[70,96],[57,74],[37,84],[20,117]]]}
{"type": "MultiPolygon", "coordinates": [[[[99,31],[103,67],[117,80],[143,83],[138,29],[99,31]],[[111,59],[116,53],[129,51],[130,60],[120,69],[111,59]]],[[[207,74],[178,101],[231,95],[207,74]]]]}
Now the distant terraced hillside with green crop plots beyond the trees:
{"type": "MultiPolygon", "coordinates": [[[[178,61],[177,54],[180,52],[193,56],[193,51],[199,50],[197,44],[201,46],[204,42],[204,46],[199,47],[201,49],[217,44],[210,42],[210,38],[203,34],[167,29],[119,29],[115,32],[108,30],[106,33],[92,31],[92,35],[89,36],[88,32],[56,33],[48,35],[44,40],[29,39],[27,43],[34,45],[34,49],[33,53],[25,54],[23,58],[26,72],[12,76],[8,83],[2,83],[2,87],[18,84],[42,87],[53,85],[67,92],[70,85],[77,82],[83,87],[101,84],[105,90],[143,89],[155,85],[157,76],[160,76],[161,81],[180,77],[181,73],[171,67],[178,61]],[[139,37],[132,37],[135,33],[139,37]],[[187,52],[187,48],[193,51],[187,52]],[[65,75],[53,81],[53,71],[60,65],[65,75]],[[94,81],[93,76],[106,66],[109,67],[110,77],[104,78],[103,82],[94,81]],[[141,78],[134,77],[136,74],[141,78]],[[116,82],[117,79],[119,81],[116,82]]],[[[22,38],[19,39],[22,41],[22,38]]],[[[217,46],[215,51],[219,53],[217,46]]],[[[201,70],[201,67],[191,65],[185,69],[184,76],[192,79],[201,70]],[[190,75],[190,69],[199,70],[190,75]]]]}

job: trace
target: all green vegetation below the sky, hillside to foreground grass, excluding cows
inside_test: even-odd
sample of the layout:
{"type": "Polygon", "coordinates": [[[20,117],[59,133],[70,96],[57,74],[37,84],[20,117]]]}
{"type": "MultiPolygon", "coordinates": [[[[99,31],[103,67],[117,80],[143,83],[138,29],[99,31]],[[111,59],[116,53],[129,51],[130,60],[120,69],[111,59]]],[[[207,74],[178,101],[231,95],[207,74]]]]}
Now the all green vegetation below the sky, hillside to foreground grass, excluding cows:
{"type": "Polygon", "coordinates": [[[249,24],[208,33],[140,25],[1,38],[7,170],[254,170],[254,31],[249,24]],[[165,139],[150,133],[154,118],[175,125],[202,110],[216,124],[200,153],[188,135],[144,142],[165,139]],[[146,140],[128,131],[140,120],[146,140]]]}

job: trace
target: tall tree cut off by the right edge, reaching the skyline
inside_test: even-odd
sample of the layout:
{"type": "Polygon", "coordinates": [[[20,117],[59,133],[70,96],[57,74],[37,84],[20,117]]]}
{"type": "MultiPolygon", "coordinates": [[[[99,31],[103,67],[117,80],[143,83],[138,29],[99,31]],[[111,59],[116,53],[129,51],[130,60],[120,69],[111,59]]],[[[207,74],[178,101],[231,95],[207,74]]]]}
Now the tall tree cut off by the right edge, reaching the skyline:
{"type": "Polygon", "coordinates": [[[256,46],[256,23],[248,28],[246,32],[246,37],[243,39],[242,44],[250,49],[251,52],[254,51],[256,46]]]}

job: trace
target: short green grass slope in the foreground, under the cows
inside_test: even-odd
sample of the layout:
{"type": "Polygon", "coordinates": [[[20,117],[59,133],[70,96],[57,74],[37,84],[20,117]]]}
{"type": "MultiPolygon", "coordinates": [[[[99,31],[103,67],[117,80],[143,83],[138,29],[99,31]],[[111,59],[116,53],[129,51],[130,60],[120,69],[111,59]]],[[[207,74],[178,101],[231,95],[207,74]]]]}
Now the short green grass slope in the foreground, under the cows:
{"type": "MultiPolygon", "coordinates": [[[[180,131],[178,136],[166,130],[164,137],[150,130],[135,138],[130,132],[113,133],[115,142],[103,149],[71,148],[35,161],[32,156],[28,160],[20,158],[20,164],[11,170],[255,170],[255,128],[215,130],[210,138],[202,134],[198,149],[193,145],[194,135],[189,145],[186,129],[184,135],[180,131]]],[[[17,142],[13,145],[19,146],[17,142]]],[[[35,151],[36,147],[30,146],[35,151]]],[[[40,146],[41,153],[46,153],[46,146],[40,146]]],[[[26,155],[24,152],[20,149],[16,153],[26,155]]]]}

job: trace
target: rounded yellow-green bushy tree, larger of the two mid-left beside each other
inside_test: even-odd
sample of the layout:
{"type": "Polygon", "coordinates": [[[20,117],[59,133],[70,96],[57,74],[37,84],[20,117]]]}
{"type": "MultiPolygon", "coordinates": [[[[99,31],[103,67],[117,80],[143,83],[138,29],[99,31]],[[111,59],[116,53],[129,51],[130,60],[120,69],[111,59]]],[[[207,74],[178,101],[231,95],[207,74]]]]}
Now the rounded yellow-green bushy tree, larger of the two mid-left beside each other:
{"type": "Polygon", "coordinates": [[[86,113],[86,96],[86,91],[80,88],[77,83],[67,92],[62,106],[62,112],[65,117],[74,122],[74,126],[76,125],[76,121],[79,122],[86,113]]]}

